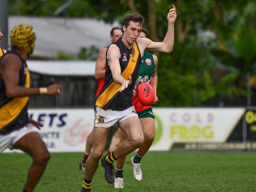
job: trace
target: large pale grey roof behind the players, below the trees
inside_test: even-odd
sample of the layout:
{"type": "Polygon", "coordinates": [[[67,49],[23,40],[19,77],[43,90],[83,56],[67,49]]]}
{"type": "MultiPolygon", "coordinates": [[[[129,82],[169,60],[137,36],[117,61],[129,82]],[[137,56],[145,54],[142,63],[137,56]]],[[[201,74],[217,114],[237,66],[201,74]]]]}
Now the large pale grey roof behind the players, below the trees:
{"type": "Polygon", "coordinates": [[[9,16],[8,22],[9,32],[18,24],[31,25],[36,33],[33,54],[45,57],[56,57],[58,52],[76,55],[92,45],[102,49],[110,44],[111,28],[120,26],[92,18],[9,16]]]}

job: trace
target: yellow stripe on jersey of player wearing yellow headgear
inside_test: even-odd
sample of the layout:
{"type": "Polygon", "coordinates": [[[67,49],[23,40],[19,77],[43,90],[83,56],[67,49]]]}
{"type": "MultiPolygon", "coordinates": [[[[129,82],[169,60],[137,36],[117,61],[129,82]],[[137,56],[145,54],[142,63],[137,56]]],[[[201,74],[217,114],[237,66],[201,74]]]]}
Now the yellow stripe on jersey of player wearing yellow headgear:
{"type": "MultiPolygon", "coordinates": [[[[24,87],[30,87],[30,74],[28,67],[26,67],[26,83],[24,87]]],[[[26,104],[28,103],[29,97],[15,97],[10,102],[6,103],[0,108],[0,129],[3,129],[5,126],[10,124],[17,116],[26,104]]]]}

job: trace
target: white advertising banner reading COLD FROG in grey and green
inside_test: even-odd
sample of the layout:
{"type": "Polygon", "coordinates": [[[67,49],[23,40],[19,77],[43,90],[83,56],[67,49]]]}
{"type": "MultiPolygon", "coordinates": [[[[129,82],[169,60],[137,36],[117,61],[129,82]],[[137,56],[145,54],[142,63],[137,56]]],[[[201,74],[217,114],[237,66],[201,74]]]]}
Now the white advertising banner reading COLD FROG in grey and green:
{"type": "Polygon", "coordinates": [[[226,142],[245,108],[153,108],[153,112],[156,135],[150,151],[170,151],[179,143],[226,142]]]}

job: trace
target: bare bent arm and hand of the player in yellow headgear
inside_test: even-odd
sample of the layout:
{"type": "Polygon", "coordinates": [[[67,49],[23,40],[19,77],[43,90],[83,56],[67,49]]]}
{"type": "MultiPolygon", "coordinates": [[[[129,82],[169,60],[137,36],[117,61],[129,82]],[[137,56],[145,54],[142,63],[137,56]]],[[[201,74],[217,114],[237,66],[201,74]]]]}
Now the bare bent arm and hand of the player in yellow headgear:
{"type": "MultiPolygon", "coordinates": [[[[1,61],[0,73],[4,79],[6,94],[8,97],[24,97],[39,95],[39,88],[25,88],[18,85],[19,71],[21,62],[17,55],[6,55],[1,61]]],[[[57,84],[52,84],[47,87],[47,94],[60,94],[61,87],[57,84]]]]}

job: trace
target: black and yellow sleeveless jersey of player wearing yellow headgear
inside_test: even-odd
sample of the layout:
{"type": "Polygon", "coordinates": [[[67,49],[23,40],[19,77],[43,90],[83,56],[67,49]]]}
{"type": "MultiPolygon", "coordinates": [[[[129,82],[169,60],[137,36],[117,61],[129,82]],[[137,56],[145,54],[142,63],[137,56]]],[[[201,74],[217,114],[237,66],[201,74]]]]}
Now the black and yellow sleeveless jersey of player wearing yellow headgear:
{"type": "MultiPolygon", "coordinates": [[[[13,51],[8,51],[3,58],[7,54],[15,54],[19,56],[22,67],[19,72],[18,85],[29,88],[30,73],[26,62],[19,54],[13,51]]],[[[9,134],[28,124],[28,99],[29,97],[7,97],[4,80],[0,76],[0,135],[9,134]]]]}

